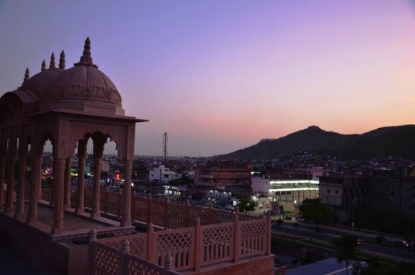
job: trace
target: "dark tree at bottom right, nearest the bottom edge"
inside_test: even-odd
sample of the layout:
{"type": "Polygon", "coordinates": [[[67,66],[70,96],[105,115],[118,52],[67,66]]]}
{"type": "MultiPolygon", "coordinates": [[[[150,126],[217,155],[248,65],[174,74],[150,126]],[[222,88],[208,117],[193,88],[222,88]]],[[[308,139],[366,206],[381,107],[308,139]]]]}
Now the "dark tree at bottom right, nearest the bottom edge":
{"type": "Polygon", "coordinates": [[[338,262],[346,263],[346,274],[349,274],[349,262],[353,256],[358,252],[358,238],[355,236],[343,233],[342,238],[335,238],[331,241],[333,248],[338,251],[338,262]]]}

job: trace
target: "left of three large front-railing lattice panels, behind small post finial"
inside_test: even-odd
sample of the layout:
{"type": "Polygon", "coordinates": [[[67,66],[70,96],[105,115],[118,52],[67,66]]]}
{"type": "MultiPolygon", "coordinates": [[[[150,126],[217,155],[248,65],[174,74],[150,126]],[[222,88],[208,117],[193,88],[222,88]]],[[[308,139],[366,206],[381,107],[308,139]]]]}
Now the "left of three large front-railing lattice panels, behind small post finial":
{"type": "Polygon", "coordinates": [[[192,268],[194,265],[194,229],[176,229],[154,233],[157,242],[157,263],[164,266],[165,255],[173,258],[174,270],[192,268]]]}

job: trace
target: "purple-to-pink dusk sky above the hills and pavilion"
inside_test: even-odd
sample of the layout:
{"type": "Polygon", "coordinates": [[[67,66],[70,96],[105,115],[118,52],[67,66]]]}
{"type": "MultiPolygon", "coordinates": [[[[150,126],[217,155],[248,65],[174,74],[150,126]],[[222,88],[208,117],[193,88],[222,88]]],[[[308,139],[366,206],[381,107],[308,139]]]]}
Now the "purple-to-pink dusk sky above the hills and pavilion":
{"type": "Polygon", "coordinates": [[[415,122],[415,1],[0,0],[0,95],[91,38],[136,154],[224,154],[318,125],[415,122]]]}

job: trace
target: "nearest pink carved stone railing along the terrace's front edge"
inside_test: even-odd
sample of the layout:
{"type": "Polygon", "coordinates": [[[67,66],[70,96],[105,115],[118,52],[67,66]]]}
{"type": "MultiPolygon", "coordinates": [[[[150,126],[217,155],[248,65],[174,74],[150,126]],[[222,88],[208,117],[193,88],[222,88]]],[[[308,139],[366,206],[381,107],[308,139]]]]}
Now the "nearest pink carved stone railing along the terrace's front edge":
{"type": "Polygon", "coordinates": [[[122,249],[129,240],[131,255],[155,265],[165,265],[172,256],[172,269],[198,271],[200,267],[218,263],[237,263],[241,258],[270,255],[270,215],[266,219],[201,225],[199,218],[194,227],[154,231],[152,224],[147,233],[102,238],[101,244],[122,249]]]}

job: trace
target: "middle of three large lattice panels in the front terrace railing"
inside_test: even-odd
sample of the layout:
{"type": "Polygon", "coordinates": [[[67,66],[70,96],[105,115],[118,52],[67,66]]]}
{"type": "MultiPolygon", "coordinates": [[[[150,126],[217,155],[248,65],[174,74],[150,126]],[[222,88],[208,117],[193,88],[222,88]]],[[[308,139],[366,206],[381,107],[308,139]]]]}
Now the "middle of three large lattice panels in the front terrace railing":
{"type": "Polygon", "coordinates": [[[210,265],[233,258],[233,224],[202,227],[203,265],[210,265]]]}

